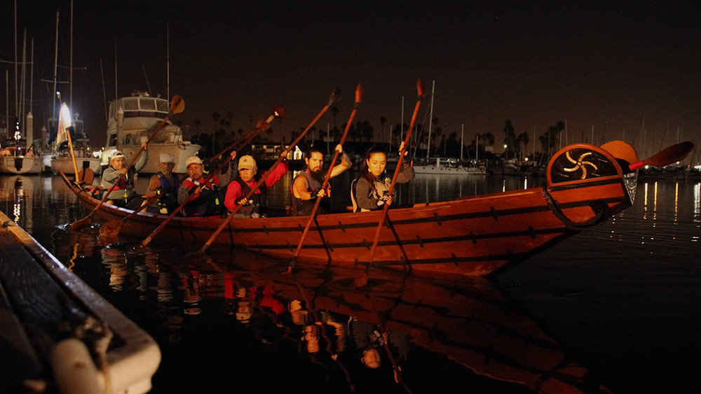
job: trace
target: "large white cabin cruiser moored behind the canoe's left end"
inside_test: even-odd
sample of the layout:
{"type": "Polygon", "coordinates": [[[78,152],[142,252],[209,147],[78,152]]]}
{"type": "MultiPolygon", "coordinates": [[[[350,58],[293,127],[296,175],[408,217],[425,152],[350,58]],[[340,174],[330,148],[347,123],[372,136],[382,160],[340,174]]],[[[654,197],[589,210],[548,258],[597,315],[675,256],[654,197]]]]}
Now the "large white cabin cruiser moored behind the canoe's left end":
{"type": "MultiPolygon", "coordinates": [[[[107,144],[102,152],[101,164],[106,167],[114,150],[121,150],[126,162],[136,155],[141,144],[147,141],[149,132],[163,122],[170,109],[170,102],[161,97],[150,97],[148,93],[134,93],[109,103],[107,122],[107,144]]],[[[142,155],[147,157],[142,173],[156,174],[158,157],[161,153],[175,156],[174,172],[186,173],[185,160],[200,149],[190,141],[184,141],[182,130],[177,125],[168,124],[154,136],[142,155]],[[150,158],[150,159],[149,159],[150,158]]],[[[137,167],[138,168],[138,167],[137,167]]]]}

